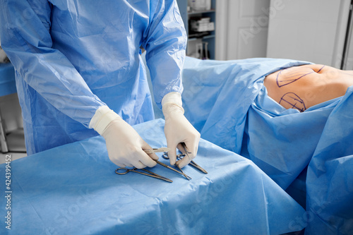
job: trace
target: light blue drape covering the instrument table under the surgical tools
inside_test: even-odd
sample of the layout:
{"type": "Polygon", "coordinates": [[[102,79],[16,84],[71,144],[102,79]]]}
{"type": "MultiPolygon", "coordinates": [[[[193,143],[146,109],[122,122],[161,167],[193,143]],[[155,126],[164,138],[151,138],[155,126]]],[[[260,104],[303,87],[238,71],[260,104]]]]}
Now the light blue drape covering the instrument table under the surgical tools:
{"type": "MultiPolygon", "coordinates": [[[[166,146],[163,127],[162,119],[134,126],[151,147],[166,146]]],[[[160,165],[150,171],[173,183],[133,172],[117,175],[100,136],[15,160],[11,231],[3,223],[0,233],[283,234],[303,229],[296,220],[304,209],[249,159],[201,140],[195,162],[208,174],[186,166],[191,181],[160,165]]],[[[4,197],[0,203],[5,205],[4,197]]],[[[0,208],[4,215],[5,207],[0,208]]]]}

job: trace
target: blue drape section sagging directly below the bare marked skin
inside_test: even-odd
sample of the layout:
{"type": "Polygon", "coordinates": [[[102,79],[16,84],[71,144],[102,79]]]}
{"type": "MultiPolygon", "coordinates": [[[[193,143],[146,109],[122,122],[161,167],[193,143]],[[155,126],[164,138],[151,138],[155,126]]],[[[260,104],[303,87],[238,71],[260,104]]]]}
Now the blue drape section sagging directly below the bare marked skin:
{"type": "Polygon", "coordinates": [[[268,97],[265,87],[249,108],[241,155],[287,188],[309,164],[325,123],[340,98],[300,113],[268,97]]]}

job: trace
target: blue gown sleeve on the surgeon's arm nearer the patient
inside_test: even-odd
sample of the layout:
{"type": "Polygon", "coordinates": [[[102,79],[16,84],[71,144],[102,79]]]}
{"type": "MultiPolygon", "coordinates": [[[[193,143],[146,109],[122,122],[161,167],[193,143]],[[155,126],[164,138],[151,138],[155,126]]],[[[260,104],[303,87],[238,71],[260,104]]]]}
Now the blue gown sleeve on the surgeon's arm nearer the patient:
{"type": "Polygon", "coordinates": [[[150,69],[155,102],[161,108],[164,95],[183,91],[181,69],[187,37],[177,1],[151,2],[157,3],[151,6],[143,47],[146,49],[146,64],[150,69]]]}

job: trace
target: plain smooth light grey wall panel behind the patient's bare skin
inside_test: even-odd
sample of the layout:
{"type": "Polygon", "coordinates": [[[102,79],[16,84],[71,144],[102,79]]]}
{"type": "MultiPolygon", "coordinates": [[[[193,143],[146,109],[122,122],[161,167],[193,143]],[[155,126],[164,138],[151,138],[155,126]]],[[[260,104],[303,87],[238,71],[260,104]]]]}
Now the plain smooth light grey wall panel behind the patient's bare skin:
{"type": "Polygon", "coordinates": [[[267,56],[340,68],[350,2],[271,0],[267,56]]]}

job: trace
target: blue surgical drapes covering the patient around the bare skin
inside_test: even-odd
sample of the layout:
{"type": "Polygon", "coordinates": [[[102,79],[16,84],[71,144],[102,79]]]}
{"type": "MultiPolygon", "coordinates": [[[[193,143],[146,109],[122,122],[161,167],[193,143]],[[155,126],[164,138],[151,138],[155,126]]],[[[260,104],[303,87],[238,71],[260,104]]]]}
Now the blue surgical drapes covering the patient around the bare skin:
{"type": "Polygon", "coordinates": [[[291,195],[306,204],[297,221],[308,224],[306,234],[351,234],[353,88],[302,113],[285,109],[268,97],[263,79],[301,64],[309,62],[187,58],[185,116],[201,138],[248,157],[282,188],[292,186],[291,195]]]}

